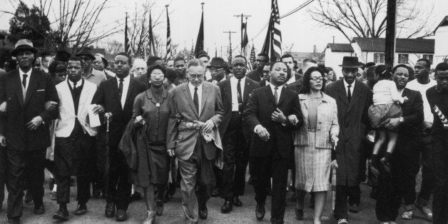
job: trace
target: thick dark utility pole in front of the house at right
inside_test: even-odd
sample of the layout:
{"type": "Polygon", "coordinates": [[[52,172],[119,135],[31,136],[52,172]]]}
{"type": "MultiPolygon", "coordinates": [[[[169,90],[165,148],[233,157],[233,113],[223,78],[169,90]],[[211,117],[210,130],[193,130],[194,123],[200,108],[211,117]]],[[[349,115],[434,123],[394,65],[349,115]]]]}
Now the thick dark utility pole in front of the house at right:
{"type": "Polygon", "coordinates": [[[397,0],[387,0],[385,64],[391,67],[394,66],[394,56],[395,56],[396,15],[397,15],[397,0]]]}

